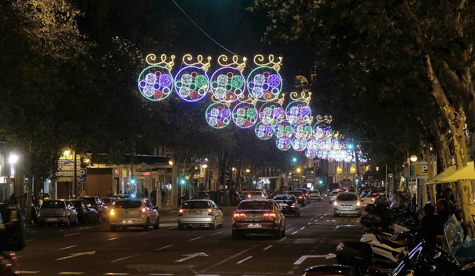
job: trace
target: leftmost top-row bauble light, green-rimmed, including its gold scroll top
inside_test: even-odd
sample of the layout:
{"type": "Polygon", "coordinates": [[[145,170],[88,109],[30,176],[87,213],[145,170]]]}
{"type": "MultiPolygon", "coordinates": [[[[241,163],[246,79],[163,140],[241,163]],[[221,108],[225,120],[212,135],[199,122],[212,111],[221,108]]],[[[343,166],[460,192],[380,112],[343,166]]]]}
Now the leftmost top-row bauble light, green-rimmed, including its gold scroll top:
{"type": "Polygon", "coordinates": [[[171,56],[170,61],[167,61],[166,55],[161,55],[160,59],[160,62],[156,62],[154,54],[148,55],[145,60],[152,66],[143,69],[138,79],[140,93],[153,101],[167,99],[173,90],[173,76],[170,71],[175,56],[171,56]]]}

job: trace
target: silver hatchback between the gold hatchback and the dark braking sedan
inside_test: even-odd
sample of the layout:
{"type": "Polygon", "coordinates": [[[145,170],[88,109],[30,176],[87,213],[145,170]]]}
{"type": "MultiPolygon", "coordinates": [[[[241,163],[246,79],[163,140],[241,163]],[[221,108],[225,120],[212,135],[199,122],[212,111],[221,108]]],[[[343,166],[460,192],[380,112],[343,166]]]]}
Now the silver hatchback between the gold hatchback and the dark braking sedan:
{"type": "Polygon", "coordinates": [[[184,227],[223,227],[222,207],[218,207],[214,201],[209,199],[187,200],[178,211],[178,230],[184,227]]]}

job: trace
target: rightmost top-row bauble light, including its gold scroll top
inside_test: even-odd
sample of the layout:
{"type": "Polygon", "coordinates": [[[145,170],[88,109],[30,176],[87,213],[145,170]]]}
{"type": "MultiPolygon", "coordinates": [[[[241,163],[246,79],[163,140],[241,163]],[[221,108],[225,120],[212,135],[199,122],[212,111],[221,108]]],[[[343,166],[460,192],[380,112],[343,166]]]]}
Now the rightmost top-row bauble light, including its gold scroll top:
{"type": "Polygon", "coordinates": [[[282,90],[282,77],[279,74],[282,57],[269,55],[268,62],[262,55],[254,57],[254,63],[259,66],[247,76],[247,89],[253,99],[272,101],[277,99],[282,90]],[[272,67],[270,67],[272,66],[272,67]]]}

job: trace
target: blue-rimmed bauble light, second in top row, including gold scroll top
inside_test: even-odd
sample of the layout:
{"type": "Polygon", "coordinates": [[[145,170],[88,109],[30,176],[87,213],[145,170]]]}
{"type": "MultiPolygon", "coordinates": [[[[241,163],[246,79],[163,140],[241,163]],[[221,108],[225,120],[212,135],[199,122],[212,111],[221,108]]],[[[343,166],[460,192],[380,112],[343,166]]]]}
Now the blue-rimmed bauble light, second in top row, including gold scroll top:
{"type": "Polygon", "coordinates": [[[188,65],[178,71],[175,77],[175,91],[181,99],[186,101],[198,101],[206,96],[209,88],[207,71],[211,57],[208,61],[202,55],[197,57],[197,62],[190,63],[193,57],[190,54],[183,56],[183,63],[188,65]],[[201,65],[201,67],[195,66],[201,65]]]}

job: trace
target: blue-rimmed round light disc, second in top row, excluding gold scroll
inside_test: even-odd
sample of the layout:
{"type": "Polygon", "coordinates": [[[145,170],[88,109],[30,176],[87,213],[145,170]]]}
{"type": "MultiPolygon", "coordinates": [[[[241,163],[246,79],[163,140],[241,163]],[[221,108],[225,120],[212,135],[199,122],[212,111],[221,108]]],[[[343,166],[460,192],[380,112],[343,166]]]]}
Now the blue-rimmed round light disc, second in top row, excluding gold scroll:
{"type": "Polygon", "coordinates": [[[183,67],[175,77],[175,91],[181,99],[186,101],[203,99],[208,89],[208,74],[200,67],[183,67]]]}

